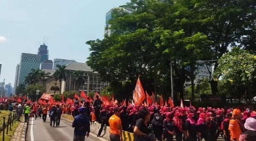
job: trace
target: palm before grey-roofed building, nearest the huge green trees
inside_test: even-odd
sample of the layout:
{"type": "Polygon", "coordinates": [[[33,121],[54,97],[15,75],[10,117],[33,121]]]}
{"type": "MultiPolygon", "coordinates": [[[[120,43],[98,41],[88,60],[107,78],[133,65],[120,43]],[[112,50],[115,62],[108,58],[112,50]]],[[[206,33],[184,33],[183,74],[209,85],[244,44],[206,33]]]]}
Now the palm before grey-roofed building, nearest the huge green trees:
{"type": "Polygon", "coordinates": [[[85,84],[86,76],[85,71],[75,71],[72,73],[74,80],[74,90],[79,88],[81,85],[85,84]]]}

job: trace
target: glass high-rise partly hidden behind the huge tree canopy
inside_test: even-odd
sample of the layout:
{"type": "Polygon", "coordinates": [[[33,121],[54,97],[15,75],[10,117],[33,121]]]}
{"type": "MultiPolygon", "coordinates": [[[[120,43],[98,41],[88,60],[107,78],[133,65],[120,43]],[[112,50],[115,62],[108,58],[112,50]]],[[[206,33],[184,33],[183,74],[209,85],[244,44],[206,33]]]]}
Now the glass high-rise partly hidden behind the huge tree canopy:
{"type": "Polygon", "coordinates": [[[133,11],[134,11],[132,8],[130,8],[130,7],[126,6],[126,5],[112,8],[109,12],[106,13],[106,25],[104,27],[104,29],[105,29],[104,30],[104,35],[110,36],[111,33],[115,32],[115,30],[109,29],[111,27],[111,24],[109,24],[109,20],[113,18],[112,17],[112,12],[115,9],[120,9],[120,10],[122,10],[124,12],[129,13],[129,14],[132,14],[133,11]]]}

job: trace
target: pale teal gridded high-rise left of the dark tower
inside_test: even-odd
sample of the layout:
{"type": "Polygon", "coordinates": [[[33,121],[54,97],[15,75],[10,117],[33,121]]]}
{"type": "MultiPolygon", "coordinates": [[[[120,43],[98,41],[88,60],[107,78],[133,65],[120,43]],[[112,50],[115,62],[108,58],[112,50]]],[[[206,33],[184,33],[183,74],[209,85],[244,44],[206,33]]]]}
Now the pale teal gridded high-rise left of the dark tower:
{"type": "Polygon", "coordinates": [[[41,56],[39,54],[21,54],[21,62],[19,63],[18,84],[24,82],[25,76],[27,76],[31,72],[31,69],[40,67],[40,57],[41,56]]]}

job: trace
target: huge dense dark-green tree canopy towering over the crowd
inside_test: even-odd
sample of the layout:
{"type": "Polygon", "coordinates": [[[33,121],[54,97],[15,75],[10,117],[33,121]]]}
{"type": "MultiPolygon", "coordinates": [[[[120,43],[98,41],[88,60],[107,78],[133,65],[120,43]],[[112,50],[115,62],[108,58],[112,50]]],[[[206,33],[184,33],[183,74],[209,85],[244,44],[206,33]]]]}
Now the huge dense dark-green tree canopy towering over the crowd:
{"type": "MultiPolygon", "coordinates": [[[[115,93],[131,97],[141,75],[149,93],[170,96],[174,91],[174,99],[177,93],[183,98],[184,83],[193,83],[197,65],[221,67],[217,61],[199,60],[219,60],[237,44],[247,50],[255,47],[255,4],[252,0],[131,0],[127,6],[134,9],[132,14],[120,8],[112,11],[108,23],[114,33],[86,42],[92,51],[87,64],[111,83],[115,93]]],[[[209,78],[214,95],[215,80],[209,78]]],[[[194,92],[192,85],[192,100],[194,92]]]]}

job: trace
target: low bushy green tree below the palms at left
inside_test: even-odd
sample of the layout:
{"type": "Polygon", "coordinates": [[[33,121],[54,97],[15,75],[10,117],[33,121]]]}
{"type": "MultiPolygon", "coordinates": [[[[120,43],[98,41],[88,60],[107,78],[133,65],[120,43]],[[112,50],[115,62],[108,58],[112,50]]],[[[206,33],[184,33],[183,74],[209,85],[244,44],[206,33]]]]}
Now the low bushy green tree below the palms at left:
{"type": "Polygon", "coordinates": [[[28,97],[31,100],[36,100],[36,90],[39,90],[39,95],[38,95],[38,99],[42,96],[43,93],[46,92],[45,88],[42,85],[28,85],[25,88],[25,92],[28,94],[28,97]]]}

